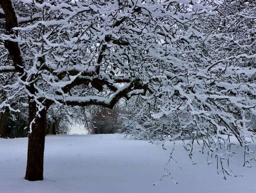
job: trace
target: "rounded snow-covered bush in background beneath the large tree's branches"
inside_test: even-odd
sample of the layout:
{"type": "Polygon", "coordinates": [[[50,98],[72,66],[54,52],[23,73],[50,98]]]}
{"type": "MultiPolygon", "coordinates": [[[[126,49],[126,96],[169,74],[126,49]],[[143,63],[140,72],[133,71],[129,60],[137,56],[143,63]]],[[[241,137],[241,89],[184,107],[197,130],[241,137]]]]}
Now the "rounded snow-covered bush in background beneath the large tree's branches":
{"type": "MultiPolygon", "coordinates": [[[[145,100],[140,96],[134,96],[126,102],[126,111],[120,113],[118,119],[122,123],[122,133],[125,137],[140,140],[165,140],[179,135],[180,137],[187,132],[179,133],[181,125],[178,120],[177,111],[159,118],[152,117],[156,112],[158,101],[145,100]]],[[[184,119],[183,119],[184,121],[184,119]]]]}

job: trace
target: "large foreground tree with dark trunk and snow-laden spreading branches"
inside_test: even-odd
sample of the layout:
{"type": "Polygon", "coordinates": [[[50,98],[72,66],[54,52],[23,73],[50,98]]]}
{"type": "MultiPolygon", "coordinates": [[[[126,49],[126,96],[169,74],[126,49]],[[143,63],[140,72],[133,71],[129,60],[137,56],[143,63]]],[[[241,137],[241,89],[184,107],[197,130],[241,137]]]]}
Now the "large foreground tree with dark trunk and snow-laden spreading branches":
{"type": "Polygon", "coordinates": [[[43,179],[46,110],[53,103],[112,108],[121,98],[141,95],[158,100],[151,113],[154,119],[174,111],[190,115],[180,123],[180,135],[192,128],[193,141],[200,135],[211,151],[218,151],[223,142],[230,145],[223,134],[234,135],[248,152],[246,137],[254,133],[240,115],[255,113],[255,85],[248,80],[256,69],[241,65],[241,58],[244,63],[256,54],[227,52],[221,46],[223,39],[234,37],[211,25],[223,15],[214,3],[222,4],[1,0],[6,32],[0,36],[5,46],[0,47],[5,54],[0,60],[8,56],[13,63],[3,63],[1,70],[15,71],[17,80],[5,86],[12,95],[0,107],[10,108],[10,101],[20,94],[28,97],[26,179],[43,179]],[[15,11],[20,8],[24,11],[15,11]],[[209,128],[215,135],[209,135],[209,128]]]}

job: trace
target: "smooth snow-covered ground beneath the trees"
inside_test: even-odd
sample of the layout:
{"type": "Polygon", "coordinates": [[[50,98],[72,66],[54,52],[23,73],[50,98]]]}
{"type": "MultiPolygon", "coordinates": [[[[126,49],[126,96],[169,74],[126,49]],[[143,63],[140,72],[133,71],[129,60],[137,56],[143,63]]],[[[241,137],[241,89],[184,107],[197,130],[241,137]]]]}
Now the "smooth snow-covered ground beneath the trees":
{"type": "MultiPolygon", "coordinates": [[[[240,167],[242,151],[233,171],[242,176],[216,174],[216,165],[207,165],[195,155],[192,165],[182,145],[174,152],[169,177],[162,177],[171,145],[120,139],[110,135],[47,136],[44,181],[24,180],[28,138],[0,139],[0,192],[2,193],[255,193],[256,163],[240,167]],[[168,146],[168,145],[167,145],[168,146]],[[178,181],[178,184],[174,183],[178,181]]],[[[254,146],[253,149],[256,150],[254,146]]]]}

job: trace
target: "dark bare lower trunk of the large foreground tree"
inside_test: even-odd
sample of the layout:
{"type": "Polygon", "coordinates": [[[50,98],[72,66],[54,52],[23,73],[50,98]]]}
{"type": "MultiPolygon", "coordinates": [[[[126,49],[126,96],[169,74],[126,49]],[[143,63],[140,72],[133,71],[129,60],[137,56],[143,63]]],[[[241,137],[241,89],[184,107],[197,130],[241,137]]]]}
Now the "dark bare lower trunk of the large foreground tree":
{"type": "Polygon", "coordinates": [[[29,101],[29,123],[32,132],[28,135],[28,161],[25,179],[29,181],[43,180],[44,171],[44,139],[46,130],[46,109],[36,116],[38,108],[33,100],[29,101]]]}

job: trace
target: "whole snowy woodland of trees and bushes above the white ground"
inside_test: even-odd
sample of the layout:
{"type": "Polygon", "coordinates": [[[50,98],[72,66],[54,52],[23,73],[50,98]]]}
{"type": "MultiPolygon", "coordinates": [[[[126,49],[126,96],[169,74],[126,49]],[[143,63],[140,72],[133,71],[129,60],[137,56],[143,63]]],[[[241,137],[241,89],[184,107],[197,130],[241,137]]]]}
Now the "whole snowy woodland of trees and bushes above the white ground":
{"type": "Polygon", "coordinates": [[[241,146],[250,167],[255,7],[254,0],[0,0],[0,135],[28,136],[25,179],[43,179],[45,135],[68,133],[72,121],[163,148],[182,141],[192,160],[200,143],[224,177],[233,175],[232,146],[241,146]]]}

